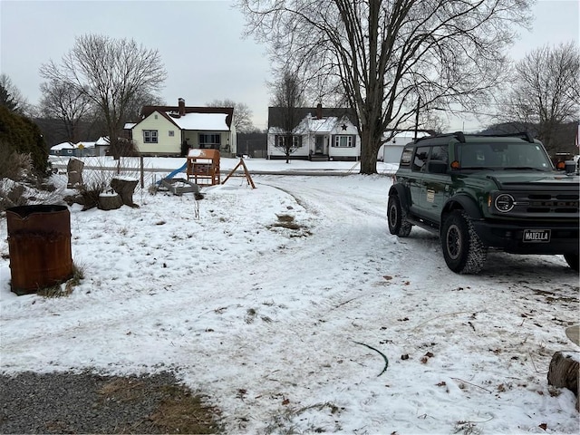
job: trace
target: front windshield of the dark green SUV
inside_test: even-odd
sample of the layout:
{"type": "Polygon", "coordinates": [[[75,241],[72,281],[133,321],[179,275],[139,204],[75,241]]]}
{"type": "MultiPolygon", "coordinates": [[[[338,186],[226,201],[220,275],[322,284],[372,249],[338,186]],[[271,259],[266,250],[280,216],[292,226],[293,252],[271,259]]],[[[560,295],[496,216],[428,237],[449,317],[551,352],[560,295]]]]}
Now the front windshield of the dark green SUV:
{"type": "Polygon", "coordinates": [[[457,157],[461,169],[552,169],[546,153],[536,143],[459,143],[457,157]]]}

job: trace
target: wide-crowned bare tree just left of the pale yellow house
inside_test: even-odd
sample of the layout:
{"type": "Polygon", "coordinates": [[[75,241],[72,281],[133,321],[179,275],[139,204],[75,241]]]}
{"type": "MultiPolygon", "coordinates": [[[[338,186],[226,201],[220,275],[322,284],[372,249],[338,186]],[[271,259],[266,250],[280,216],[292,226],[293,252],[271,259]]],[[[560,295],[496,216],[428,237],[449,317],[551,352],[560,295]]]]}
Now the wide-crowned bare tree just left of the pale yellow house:
{"type": "Polygon", "coordinates": [[[99,108],[115,157],[121,154],[119,134],[131,99],[140,92],[158,92],[167,76],[157,50],[146,49],[132,39],[96,34],[77,37],[62,62],[44,63],[40,74],[74,88],[99,108]]]}

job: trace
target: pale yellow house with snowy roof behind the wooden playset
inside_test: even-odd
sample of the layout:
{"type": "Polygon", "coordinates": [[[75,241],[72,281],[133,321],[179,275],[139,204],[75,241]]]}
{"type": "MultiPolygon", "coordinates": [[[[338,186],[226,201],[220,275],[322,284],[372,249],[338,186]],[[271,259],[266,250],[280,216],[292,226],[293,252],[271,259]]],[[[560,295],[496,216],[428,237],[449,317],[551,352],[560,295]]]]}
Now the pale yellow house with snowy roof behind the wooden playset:
{"type": "Polygon", "coordinates": [[[141,120],[125,125],[130,139],[144,156],[186,156],[189,149],[237,153],[233,107],[144,106],[141,120]]]}

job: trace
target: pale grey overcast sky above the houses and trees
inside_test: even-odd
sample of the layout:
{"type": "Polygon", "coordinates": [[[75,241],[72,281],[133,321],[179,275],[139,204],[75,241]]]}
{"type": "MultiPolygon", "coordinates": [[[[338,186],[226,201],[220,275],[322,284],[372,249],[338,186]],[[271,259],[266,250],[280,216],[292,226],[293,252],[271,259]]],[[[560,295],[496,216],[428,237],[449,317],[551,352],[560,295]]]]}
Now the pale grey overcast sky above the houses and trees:
{"type": "MultiPolygon", "coordinates": [[[[244,17],[230,1],[6,1],[0,0],[0,71],[28,102],[40,99],[42,63],[60,61],[81,34],[133,38],[157,49],[168,78],[161,91],[170,105],[214,100],[243,102],[254,124],[266,129],[270,67],[266,47],[243,39],[244,17]]],[[[512,50],[520,59],[548,44],[580,38],[578,0],[540,0],[533,32],[521,31],[512,50]]],[[[314,106],[315,102],[312,103],[314,106]]],[[[472,119],[454,120],[449,130],[478,128],[472,119]]]]}

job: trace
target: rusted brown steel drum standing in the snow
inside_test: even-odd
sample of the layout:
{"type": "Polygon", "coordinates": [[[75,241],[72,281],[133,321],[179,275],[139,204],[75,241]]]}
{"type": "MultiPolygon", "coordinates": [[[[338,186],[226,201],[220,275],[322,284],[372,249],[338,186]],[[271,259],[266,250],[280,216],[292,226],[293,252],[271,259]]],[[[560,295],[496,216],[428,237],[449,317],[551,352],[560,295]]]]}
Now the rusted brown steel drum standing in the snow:
{"type": "Polygon", "coordinates": [[[71,214],[66,206],[6,209],[12,291],[34,293],[73,276],[71,214]]]}

